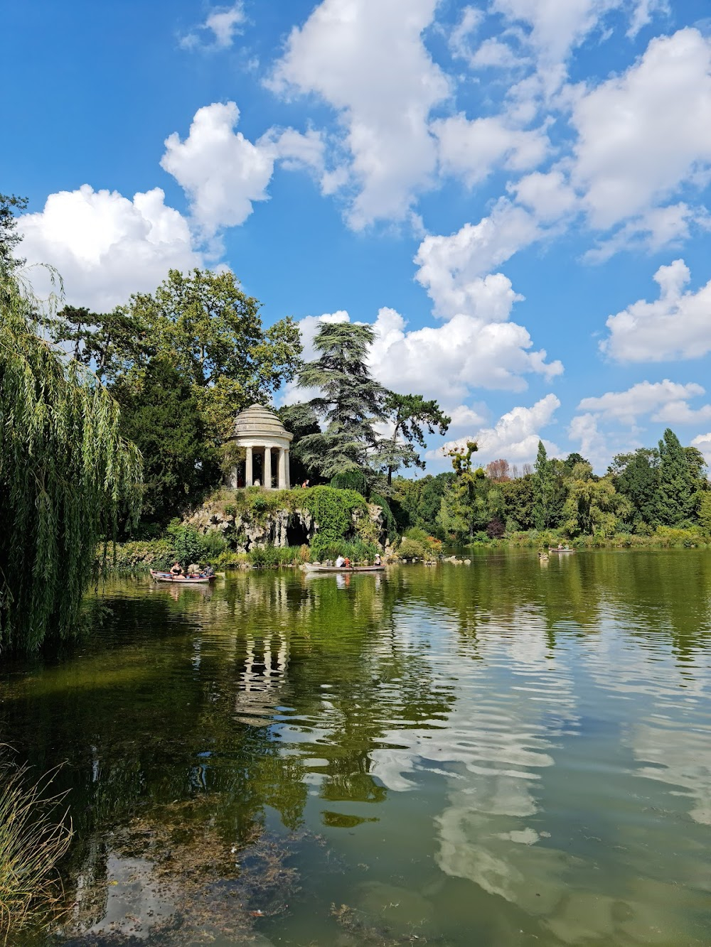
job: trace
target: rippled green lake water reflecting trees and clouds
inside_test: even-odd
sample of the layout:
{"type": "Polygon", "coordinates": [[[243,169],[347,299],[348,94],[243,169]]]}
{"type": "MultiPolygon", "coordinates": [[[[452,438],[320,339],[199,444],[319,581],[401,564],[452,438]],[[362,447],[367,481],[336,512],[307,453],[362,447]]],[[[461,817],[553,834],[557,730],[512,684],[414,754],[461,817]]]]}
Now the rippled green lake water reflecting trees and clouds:
{"type": "Polygon", "coordinates": [[[76,830],[39,942],[711,943],[711,553],[107,604],[0,667],[0,738],[66,761],[76,830]]]}

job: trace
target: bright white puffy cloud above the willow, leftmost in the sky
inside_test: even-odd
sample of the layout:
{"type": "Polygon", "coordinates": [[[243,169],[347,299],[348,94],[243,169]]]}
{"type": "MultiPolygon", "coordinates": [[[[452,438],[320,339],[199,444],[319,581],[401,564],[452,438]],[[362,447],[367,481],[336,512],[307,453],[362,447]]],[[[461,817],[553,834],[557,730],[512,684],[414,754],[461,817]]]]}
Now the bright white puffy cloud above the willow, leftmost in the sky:
{"type": "Polygon", "coordinates": [[[18,220],[23,256],[57,268],[67,302],[112,309],[131,293],[152,292],[172,267],[204,265],[188,222],[164,198],[160,188],[129,200],[87,184],[50,194],[42,211],[18,220]]]}

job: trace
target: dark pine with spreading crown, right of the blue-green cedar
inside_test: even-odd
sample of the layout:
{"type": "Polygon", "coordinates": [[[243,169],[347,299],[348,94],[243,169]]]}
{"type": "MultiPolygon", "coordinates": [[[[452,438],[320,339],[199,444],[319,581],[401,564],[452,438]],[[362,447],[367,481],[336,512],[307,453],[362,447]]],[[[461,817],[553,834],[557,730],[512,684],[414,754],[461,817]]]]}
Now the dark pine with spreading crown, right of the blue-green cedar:
{"type": "Polygon", "coordinates": [[[385,395],[383,411],[392,424],[390,438],[381,438],[375,463],[388,475],[388,487],[392,486],[392,474],[400,467],[425,469],[425,461],[415,447],[427,447],[425,431],[447,434],[451,418],[442,411],[436,401],[425,401],[422,395],[397,395],[389,391],[385,395]]]}

